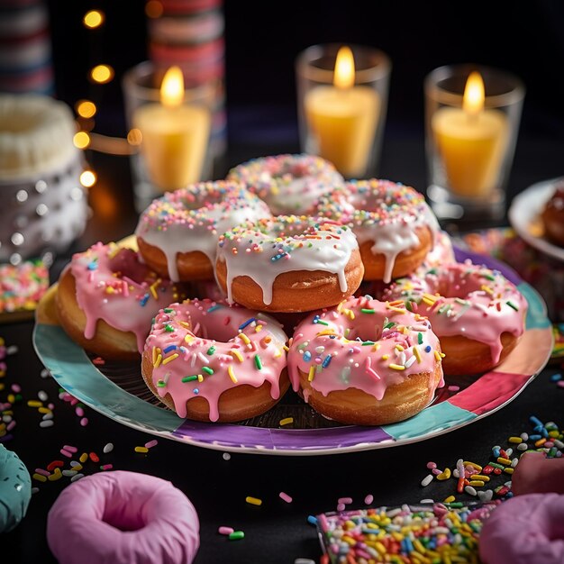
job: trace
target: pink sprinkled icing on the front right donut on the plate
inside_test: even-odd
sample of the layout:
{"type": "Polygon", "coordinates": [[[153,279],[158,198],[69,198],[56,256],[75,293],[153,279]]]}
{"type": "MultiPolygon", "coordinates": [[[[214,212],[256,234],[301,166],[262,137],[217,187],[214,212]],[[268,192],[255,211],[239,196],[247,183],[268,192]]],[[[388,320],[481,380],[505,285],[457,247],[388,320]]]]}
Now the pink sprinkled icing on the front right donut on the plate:
{"type": "Polygon", "coordinates": [[[355,387],[380,400],[387,387],[408,376],[434,372],[435,350],[440,350],[439,340],[426,319],[396,311],[367,296],[351,297],[337,307],[309,315],[296,327],[288,352],[288,371],[296,391],[298,368],[310,374],[314,367],[311,386],[323,396],[355,387]],[[388,327],[388,323],[394,325],[388,327]]]}

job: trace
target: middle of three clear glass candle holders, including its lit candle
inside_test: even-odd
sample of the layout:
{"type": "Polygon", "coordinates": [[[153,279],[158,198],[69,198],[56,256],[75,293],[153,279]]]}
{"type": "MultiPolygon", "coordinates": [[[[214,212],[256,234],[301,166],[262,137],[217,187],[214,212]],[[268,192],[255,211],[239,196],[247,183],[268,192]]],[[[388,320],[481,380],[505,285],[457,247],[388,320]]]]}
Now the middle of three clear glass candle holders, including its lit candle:
{"type": "Polygon", "coordinates": [[[391,62],[381,50],[314,45],[296,59],[301,150],[346,178],[378,176],[391,62]]]}

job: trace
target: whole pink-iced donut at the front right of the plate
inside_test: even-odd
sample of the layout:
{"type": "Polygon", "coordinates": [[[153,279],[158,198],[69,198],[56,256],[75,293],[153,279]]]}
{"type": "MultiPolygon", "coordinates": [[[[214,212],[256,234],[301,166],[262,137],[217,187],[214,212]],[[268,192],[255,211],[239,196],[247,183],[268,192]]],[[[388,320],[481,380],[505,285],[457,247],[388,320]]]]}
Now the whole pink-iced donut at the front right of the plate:
{"type": "Polygon", "coordinates": [[[429,321],[370,296],[310,314],[288,351],[292,387],[345,424],[403,421],[444,385],[441,345],[429,321]]]}

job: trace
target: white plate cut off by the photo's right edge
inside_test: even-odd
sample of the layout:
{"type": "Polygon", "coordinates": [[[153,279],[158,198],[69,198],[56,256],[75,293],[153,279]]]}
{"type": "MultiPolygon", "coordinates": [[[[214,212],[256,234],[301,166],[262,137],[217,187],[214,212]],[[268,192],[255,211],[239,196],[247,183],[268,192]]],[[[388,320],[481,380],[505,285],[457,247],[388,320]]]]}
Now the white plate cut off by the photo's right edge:
{"type": "Polygon", "coordinates": [[[559,260],[564,260],[564,249],[544,237],[541,212],[552,196],[556,184],[562,181],[564,177],[558,177],[529,186],[514,197],[508,212],[509,222],[523,241],[527,241],[545,255],[559,260]]]}

